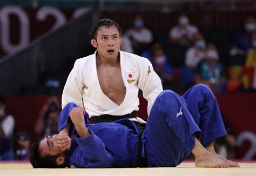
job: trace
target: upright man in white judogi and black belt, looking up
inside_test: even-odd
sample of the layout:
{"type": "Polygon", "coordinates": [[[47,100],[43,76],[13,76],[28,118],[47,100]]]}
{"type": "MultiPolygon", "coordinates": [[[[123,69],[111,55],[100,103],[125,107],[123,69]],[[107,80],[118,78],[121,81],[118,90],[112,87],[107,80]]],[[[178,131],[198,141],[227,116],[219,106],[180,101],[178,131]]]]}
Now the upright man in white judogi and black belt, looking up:
{"type": "Polygon", "coordinates": [[[63,90],[62,107],[70,102],[84,107],[92,123],[121,118],[145,123],[136,113],[139,89],[148,101],[148,114],[163,91],[152,64],[146,58],[119,50],[121,29],[111,19],[100,20],[92,27],[91,35],[91,44],[97,50],[76,60],[63,90]]]}

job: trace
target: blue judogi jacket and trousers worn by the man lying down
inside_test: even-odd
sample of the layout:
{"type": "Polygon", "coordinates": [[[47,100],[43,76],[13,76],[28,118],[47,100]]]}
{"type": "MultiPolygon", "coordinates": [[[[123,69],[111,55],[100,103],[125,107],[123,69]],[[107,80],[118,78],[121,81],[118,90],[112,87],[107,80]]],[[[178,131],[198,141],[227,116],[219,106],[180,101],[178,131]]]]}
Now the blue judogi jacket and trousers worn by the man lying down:
{"type": "MultiPolygon", "coordinates": [[[[69,103],[58,119],[59,130],[68,122],[69,113],[77,105],[69,103]]],[[[75,136],[65,155],[68,167],[137,167],[139,128],[129,119],[113,123],[89,124],[91,135],[75,136]]],[[[75,128],[70,129],[70,136],[75,128]]],[[[147,119],[142,143],[147,167],[179,165],[194,147],[194,134],[207,146],[225,136],[217,100],[205,85],[196,85],[183,97],[166,90],[159,94],[147,119]]]]}

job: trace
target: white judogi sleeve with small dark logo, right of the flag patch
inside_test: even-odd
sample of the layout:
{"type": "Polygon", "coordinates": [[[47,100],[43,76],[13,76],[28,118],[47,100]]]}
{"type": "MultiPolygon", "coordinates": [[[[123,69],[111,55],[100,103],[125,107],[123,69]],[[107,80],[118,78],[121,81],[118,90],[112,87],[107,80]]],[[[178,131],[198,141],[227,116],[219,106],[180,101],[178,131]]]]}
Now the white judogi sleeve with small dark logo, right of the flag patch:
{"type": "Polygon", "coordinates": [[[151,108],[158,94],[163,91],[161,80],[153,66],[146,58],[139,64],[138,86],[143,91],[143,97],[147,100],[147,115],[149,116],[151,108]]]}

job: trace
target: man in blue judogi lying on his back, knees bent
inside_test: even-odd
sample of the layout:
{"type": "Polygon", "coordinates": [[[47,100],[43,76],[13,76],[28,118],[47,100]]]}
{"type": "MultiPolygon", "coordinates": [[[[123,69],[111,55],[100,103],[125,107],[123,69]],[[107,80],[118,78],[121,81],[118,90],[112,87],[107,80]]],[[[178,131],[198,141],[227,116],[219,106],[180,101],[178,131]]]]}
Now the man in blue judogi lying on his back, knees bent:
{"type": "Polygon", "coordinates": [[[174,167],[191,152],[197,167],[239,167],[214,151],[213,141],[226,131],[205,85],[193,86],[183,97],[161,92],[143,133],[129,119],[90,124],[84,109],[73,103],[60,113],[58,128],[59,134],[31,146],[33,167],[174,167]]]}

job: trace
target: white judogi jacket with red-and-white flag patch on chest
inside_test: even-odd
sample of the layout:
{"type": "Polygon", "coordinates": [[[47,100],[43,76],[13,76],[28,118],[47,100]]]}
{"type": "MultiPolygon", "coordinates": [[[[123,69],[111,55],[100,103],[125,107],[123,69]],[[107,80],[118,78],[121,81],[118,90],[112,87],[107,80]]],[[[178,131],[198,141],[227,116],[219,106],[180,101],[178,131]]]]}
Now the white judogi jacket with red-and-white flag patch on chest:
{"type": "Polygon", "coordinates": [[[84,105],[90,117],[103,114],[123,116],[134,110],[139,110],[138,91],[141,89],[143,97],[148,101],[147,113],[149,114],[154,100],[163,91],[161,80],[153,71],[150,61],[131,53],[119,51],[126,95],[123,103],[118,106],[100,88],[96,52],[94,55],[76,60],[63,90],[62,107],[72,102],[79,106],[84,105]]]}

